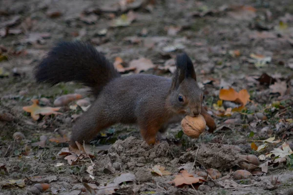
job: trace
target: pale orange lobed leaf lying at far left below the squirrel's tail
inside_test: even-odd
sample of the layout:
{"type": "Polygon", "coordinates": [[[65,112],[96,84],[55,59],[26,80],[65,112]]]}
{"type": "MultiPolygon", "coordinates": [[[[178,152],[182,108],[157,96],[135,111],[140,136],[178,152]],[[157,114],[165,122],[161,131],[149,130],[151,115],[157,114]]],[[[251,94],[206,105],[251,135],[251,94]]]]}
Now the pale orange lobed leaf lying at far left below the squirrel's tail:
{"type": "Polygon", "coordinates": [[[38,120],[40,118],[40,114],[43,116],[47,115],[62,115],[62,113],[56,112],[60,109],[60,107],[52,108],[52,107],[40,107],[39,100],[32,99],[33,104],[31,106],[25,106],[22,109],[31,114],[31,117],[34,120],[38,120]]]}

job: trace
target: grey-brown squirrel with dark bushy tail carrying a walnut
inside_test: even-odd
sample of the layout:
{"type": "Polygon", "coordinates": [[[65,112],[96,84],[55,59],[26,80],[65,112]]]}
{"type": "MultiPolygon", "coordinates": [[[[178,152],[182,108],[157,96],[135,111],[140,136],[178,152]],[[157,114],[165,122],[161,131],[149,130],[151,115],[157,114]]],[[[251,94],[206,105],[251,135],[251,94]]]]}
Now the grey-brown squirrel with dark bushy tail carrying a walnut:
{"type": "Polygon", "coordinates": [[[176,56],[172,79],[137,74],[121,77],[103,54],[80,41],[59,42],[34,68],[37,82],[55,85],[77,81],[91,88],[96,100],[72,127],[70,145],[88,143],[101,130],[114,125],[137,124],[147,144],[159,142],[158,132],[189,115],[201,114],[209,127],[216,124],[202,106],[204,95],[196,81],[191,59],[176,56]]]}

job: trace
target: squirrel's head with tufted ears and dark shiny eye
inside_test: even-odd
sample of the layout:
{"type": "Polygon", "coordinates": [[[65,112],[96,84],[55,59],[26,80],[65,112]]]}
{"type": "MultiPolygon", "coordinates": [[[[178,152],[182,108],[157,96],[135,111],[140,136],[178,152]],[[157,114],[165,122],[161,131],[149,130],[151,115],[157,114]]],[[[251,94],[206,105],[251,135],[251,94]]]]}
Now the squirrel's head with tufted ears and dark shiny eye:
{"type": "Polygon", "coordinates": [[[169,94],[173,112],[195,117],[200,114],[204,95],[196,81],[191,59],[183,53],[176,57],[176,72],[169,94]]]}

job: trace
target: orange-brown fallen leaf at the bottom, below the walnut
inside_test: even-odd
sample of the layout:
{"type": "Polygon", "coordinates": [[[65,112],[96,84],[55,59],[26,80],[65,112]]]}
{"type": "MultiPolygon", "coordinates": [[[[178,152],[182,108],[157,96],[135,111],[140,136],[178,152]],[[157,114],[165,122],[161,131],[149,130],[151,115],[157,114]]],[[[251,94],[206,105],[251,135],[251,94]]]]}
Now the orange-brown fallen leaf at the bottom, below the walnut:
{"type": "Polygon", "coordinates": [[[175,183],[175,186],[181,186],[183,184],[191,185],[204,181],[205,179],[203,179],[202,177],[193,177],[193,175],[188,174],[186,170],[182,170],[177,176],[175,176],[175,179],[172,181],[172,183],[175,183]]]}

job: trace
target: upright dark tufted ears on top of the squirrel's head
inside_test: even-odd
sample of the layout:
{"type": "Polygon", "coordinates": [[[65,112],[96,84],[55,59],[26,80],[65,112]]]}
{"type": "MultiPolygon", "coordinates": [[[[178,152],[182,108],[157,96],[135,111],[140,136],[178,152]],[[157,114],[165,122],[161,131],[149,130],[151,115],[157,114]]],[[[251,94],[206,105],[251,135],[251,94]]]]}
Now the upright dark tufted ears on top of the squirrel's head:
{"type": "Polygon", "coordinates": [[[178,88],[185,78],[196,80],[196,74],[191,59],[186,53],[176,56],[176,71],[173,77],[172,90],[178,88]]]}

